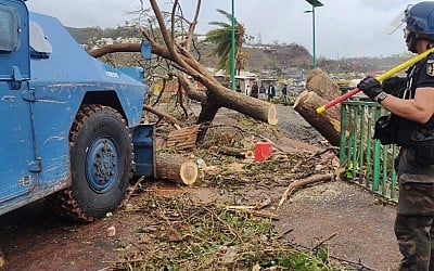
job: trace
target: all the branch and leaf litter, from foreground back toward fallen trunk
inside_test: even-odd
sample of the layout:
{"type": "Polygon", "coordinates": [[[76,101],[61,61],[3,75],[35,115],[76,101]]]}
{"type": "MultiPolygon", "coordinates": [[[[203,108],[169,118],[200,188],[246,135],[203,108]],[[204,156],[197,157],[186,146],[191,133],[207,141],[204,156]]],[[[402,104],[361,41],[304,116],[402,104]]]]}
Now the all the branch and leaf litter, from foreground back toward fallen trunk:
{"type": "MultiPolygon", "coordinates": [[[[312,247],[283,242],[272,220],[278,202],[263,195],[248,197],[252,190],[269,191],[288,186],[314,175],[330,176],[335,169],[335,149],[315,154],[285,152],[275,139],[276,128],[235,114],[233,124],[210,125],[205,140],[189,157],[197,162],[201,177],[194,185],[219,191],[215,198],[201,202],[181,189],[153,191],[136,186],[136,202],[129,214],[143,215],[143,224],[132,233],[133,242],[119,240],[122,256],[115,270],[360,270],[329,254],[328,242],[312,247]],[[255,142],[269,141],[273,154],[265,162],[226,155],[221,145],[251,150],[255,142]],[[266,189],[264,189],[266,188],[266,189]],[[146,195],[146,196],[143,196],[146,195]]],[[[309,183],[308,185],[315,185],[309,183]]],[[[193,188],[190,188],[190,190],[193,188]]],[[[303,189],[303,188],[299,188],[303,189]]],[[[369,268],[363,270],[370,270],[369,268]]]]}

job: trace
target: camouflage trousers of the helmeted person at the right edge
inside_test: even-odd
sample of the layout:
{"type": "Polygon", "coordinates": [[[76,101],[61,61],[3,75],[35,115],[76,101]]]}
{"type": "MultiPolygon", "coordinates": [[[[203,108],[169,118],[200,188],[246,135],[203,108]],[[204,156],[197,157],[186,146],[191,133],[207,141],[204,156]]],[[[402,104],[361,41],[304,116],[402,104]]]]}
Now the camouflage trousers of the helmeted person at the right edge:
{"type": "Polygon", "coordinates": [[[399,201],[395,220],[403,261],[399,270],[434,271],[434,165],[421,165],[413,150],[401,147],[399,201]]]}

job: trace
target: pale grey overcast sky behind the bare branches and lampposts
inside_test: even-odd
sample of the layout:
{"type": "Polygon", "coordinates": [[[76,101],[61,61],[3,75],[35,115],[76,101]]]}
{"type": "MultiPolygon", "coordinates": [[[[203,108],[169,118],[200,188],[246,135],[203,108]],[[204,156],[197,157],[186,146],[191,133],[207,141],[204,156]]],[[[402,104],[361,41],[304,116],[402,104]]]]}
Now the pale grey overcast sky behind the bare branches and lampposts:
{"type": "MultiPolygon", "coordinates": [[[[404,12],[406,0],[320,0],[315,10],[316,54],[327,59],[388,56],[407,52],[403,30],[387,35],[386,28],[404,12]]],[[[146,0],[143,0],[148,4],[146,0]]],[[[164,5],[168,0],[161,0],[164,5]]],[[[195,0],[179,0],[192,18],[195,0]]],[[[305,0],[234,0],[235,17],[248,35],[263,43],[298,43],[312,52],[311,5],[305,0]]],[[[139,9],[139,0],[28,0],[30,11],[58,17],[72,27],[116,27],[132,20],[128,12],[139,9]]],[[[196,27],[205,34],[209,22],[227,22],[216,10],[231,12],[232,0],[202,0],[196,27]]],[[[162,7],[163,9],[163,7],[162,7]]]]}

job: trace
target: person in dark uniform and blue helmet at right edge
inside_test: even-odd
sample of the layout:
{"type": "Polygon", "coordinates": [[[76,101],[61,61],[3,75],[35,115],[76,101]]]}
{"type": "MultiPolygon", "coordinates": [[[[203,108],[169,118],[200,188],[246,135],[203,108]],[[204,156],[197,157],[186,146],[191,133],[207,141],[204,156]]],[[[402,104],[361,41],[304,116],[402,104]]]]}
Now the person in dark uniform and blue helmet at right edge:
{"type": "MultiPolygon", "coordinates": [[[[404,38],[412,53],[434,48],[434,1],[404,12],[404,38]]],[[[397,144],[399,198],[395,235],[403,260],[399,270],[434,270],[434,54],[381,85],[367,77],[358,88],[391,114],[375,124],[374,138],[397,144]]]]}

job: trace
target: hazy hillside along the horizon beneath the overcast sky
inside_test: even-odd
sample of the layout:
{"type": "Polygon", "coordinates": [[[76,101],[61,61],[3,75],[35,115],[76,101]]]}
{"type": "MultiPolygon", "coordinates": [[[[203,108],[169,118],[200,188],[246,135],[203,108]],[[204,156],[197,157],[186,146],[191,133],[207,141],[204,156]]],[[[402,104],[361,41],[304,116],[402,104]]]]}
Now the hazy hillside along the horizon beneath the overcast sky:
{"type": "MultiPolygon", "coordinates": [[[[141,38],[140,34],[135,27],[122,27],[122,28],[106,28],[102,29],[99,27],[87,27],[87,28],[74,28],[67,27],[72,36],[81,44],[94,44],[95,40],[101,38],[113,38],[117,37],[138,37],[141,38]]],[[[217,63],[216,57],[209,57],[210,48],[209,44],[197,43],[196,48],[200,51],[201,63],[205,66],[215,67],[217,63]]],[[[255,44],[246,46],[244,48],[247,62],[246,70],[259,72],[263,69],[308,69],[311,67],[312,56],[309,51],[303,46],[291,43],[280,46],[266,46],[255,44]]],[[[327,73],[344,74],[344,73],[368,73],[373,70],[387,70],[397,64],[408,60],[410,55],[395,55],[388,57],[352,57],[352,59],[340,59],[340,60],[327,60],[319,57],[317,60],[317,66],[322,68],[327,73]]],[[[128,65],[131,63],[125,55],[123,57],[116,57],[117,61],[125,63],[117,63],[117,65],[128,65]]]]}

